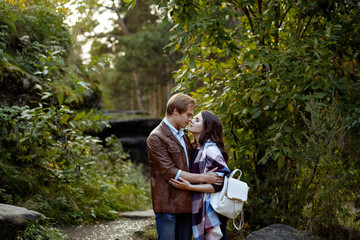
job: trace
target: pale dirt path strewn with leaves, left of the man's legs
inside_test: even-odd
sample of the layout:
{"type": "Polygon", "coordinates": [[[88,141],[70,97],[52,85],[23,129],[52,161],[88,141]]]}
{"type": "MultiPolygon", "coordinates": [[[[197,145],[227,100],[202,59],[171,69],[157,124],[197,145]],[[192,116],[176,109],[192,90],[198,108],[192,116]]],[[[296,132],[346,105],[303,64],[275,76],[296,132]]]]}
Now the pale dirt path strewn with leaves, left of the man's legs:
{"type": "Polygon", "coordinates": [[[130,240],[134,232],[155,223],[152,215],[152,211],[123,213],[116,221],[60,229],[68,240],[130,240]]]}

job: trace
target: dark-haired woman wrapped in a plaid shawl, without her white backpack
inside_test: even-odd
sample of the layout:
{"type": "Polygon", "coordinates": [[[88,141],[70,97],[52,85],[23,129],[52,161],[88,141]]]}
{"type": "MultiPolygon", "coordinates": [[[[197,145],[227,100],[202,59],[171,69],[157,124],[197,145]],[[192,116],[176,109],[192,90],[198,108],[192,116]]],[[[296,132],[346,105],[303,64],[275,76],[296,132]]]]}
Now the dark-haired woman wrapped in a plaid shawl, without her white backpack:
{"type": "MultiPolygon", "coordinates": [[[[217,168],[216,173],[225,176],[230,173],[226,165],[228,154],[224,147],[222,124],[212,112],[202,111],[191,121],[189,128],[194,136],[192,173],[205,173],[217,168]]],[[[192,195],[192,225],[194,240],[227,239],[227,218],[217,214],[210,205],[210,194],[220,191],[222,186],[191,184],[183,178],[170,183],[180,189],[194,191],[192,195]]]]}

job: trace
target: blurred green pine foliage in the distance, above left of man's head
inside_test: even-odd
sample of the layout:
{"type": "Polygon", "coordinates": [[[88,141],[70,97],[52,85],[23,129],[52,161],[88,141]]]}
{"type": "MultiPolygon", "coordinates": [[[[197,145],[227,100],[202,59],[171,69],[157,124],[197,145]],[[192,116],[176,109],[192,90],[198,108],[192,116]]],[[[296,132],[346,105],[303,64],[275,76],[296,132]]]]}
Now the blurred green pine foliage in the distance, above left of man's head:
{"type": "Polygon", "coordinates": [[[108,100],[105,102],[107,108],[129,109],[128,100],[136,91],[131,81],[134,71],[140,76],[145,107],[150,108],[151,91],[157,90],[159,85],[166,86],[176,62],[176,57],[170,57],[169,52],[163,49],[168,38],[169,26],[157,24],[144,26],[141,31],[119,40],[117,51],[124,54],[114,58],[115,69],[104,74],[101,83],[108,94],[104,96],[104,102],[108,100]]]}

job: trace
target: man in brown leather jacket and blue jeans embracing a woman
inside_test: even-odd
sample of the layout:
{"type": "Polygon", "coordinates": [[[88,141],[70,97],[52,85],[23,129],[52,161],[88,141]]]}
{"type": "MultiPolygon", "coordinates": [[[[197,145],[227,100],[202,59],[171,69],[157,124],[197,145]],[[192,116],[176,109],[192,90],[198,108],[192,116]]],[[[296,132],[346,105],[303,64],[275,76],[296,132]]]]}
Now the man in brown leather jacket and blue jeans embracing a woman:
{"type": "Polygon", "coordinates": [[[159,240],[192,238],[191,192],[170,185],[171,178],[182,177],[191,183],[218,185],[223,181],[213,172],[189,172],[192,147],[183,129],[192,120],[195,108],[193,98],[182,93],[175,94],[167,103],[166,117],[147,139],[151,196],[159,240]]]}

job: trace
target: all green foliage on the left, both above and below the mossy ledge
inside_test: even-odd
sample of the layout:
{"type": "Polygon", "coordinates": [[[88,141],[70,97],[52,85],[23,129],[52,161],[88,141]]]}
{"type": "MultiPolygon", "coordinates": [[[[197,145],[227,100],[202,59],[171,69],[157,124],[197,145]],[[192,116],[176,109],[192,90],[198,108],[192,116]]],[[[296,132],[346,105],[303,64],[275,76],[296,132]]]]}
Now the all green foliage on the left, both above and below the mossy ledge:
{"type": "Polygon", "coordinates": [[[0,107],[0,201],[52,222],[114,219],[149,207],[149,184],[120,142],[87,134],[108,126],[93,108],[101,105],[97,79],[107,62],[84,65],[74,53],[60,2],[1,1],[0,61],[14,72],[4,83],[36,76],[33,99],[41,102],[0,107]]]}

